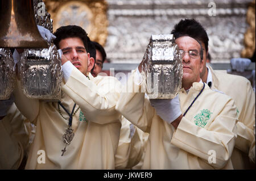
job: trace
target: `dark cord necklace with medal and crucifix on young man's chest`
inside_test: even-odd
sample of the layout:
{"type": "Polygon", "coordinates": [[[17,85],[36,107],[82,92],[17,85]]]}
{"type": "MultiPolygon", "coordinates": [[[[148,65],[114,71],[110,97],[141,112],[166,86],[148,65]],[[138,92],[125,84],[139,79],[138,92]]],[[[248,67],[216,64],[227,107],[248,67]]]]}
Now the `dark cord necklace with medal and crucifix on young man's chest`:
{"type": "MultiPolygon", "coordinates": [[[[65,148],[62,151],[61,156],[63,156],[64,152],[66,151],[66,147],[67,145],[69,145],[73,139],[73,137],[75,136],[75,133],[73,133],[73,129],[72,129],[72,120],[73,120],[73,116],[76,114],[76,112],[79,110],[79,107],[77,108],[77,110],[74,113],[76,104],[74,104],[72,112],[69,113],[68,110],[63,106],[63,104],[61,104],[60,102],[58,102],[58,108],[59,108],[59,112],[60,112],[60,106],[63,108],[63,110],[65,112],[68,113],[69,115],[69,119],[68,119],[68,128],[66,129],[65,133],[63,134],[63,141],[65,143],[65,148]]],[[[60,115],[63,117],[63,115],[60,112],[60,115]]],[[[63,117],[64,118],[64,117],[63,117]]],[[[64,118],[65,119],[65,118],[64,118]]]]}

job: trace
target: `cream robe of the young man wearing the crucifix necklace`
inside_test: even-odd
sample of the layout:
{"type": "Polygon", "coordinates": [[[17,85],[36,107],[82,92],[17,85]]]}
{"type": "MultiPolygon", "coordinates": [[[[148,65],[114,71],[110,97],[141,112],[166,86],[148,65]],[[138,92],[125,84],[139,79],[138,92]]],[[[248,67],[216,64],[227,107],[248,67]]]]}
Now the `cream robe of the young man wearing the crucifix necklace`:
{"type": "Polygon", "coordinates": [[[75,136],[67,151],[63,134],[68,128],[68,114],[56,102],[39,102],[28,99],[15,89],[15,100],[20,112],[36,124],[36,135],[31,145],[26,169],[114,169],[114,155],[119,140],[121,115],[115,111],[115,104],[121,91],[121,83],[114,77],[90,80],[78,69],[73,69],[68,81],[63,84],[61,103],[73,116],[72,128],[75,136]],[[81,112],[86,117],[80,116],[81,112]],[[79,120],[80,117],[80,120],[79,120]],[[39,151],[39,152],[38,152],[39,151]],[[44,163],[45,153],[45,163],[44,163]]]}

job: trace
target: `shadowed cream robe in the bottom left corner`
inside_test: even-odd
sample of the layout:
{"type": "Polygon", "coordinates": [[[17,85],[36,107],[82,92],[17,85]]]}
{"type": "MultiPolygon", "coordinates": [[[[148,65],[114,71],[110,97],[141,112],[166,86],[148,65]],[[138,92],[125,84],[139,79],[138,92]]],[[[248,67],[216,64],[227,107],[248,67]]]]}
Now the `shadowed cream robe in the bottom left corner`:
{"type": "Polygon", "coordinates": [[[18,169],[27,154],[28,134],[24,120],[14,103],[0,120],[0,169],[18,169]]]}

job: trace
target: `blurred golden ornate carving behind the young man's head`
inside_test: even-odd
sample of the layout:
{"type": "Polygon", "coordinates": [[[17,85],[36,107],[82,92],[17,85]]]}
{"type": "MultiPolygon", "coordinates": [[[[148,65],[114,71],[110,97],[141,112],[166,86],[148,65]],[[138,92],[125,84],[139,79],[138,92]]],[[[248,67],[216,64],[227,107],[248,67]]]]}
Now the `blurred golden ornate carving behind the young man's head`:
{"type": "Polygon", "coordinates": [[[85,29],[91,40],[104,45],[108,36],[107,3],[103,0],[44,0],[53,19],[53,31],[76,24],[85,29]]]}

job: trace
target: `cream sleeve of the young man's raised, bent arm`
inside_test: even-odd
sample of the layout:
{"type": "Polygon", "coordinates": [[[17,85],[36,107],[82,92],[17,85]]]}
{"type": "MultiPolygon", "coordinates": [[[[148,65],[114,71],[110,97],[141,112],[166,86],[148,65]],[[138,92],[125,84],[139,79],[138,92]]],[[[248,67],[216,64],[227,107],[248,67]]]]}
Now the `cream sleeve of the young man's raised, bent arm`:
{"type": "Polygon", "coordinates": [[[80,106],[88,120],[98,124],[119,121],[121,115],[115,110],[115,104],[122,90],[121,83],[114,77],[97,76],[95,79],[97,84],[74,68],[62,90],[80,106]]]}

